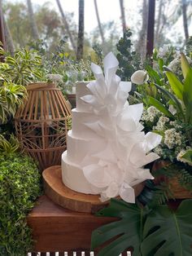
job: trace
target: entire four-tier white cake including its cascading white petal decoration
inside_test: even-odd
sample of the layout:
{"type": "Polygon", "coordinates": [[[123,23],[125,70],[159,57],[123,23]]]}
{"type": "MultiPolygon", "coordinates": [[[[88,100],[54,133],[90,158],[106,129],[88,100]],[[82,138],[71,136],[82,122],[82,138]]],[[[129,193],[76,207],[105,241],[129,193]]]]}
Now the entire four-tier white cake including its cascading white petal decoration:
{"type": "Polygon", "coordinates": [[[137,183],[153,179],[147,163],[159,158],[150,152],[161,136],[144,134],[139,123],[142,104],[129,105],[130,82],[116,76],[118,61],[109,53],[102,68],[91,65],[93,82],[76,84],[72,130],[62,155],[63,183],[76,192],[100,194],[101,200],[121,196],[134,202],[137,183]]]}

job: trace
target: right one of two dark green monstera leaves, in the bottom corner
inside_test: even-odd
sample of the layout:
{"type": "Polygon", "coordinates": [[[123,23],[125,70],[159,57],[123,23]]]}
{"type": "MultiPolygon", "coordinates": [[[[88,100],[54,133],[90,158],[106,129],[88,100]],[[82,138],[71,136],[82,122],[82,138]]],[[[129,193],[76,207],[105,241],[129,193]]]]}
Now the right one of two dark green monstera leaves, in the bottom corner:
{"type": "Polygon", "coordinates": [[[192,255],[192,200],[177,211],[160,205],[147,215],[143,228],[142,256],[192,255]]]}

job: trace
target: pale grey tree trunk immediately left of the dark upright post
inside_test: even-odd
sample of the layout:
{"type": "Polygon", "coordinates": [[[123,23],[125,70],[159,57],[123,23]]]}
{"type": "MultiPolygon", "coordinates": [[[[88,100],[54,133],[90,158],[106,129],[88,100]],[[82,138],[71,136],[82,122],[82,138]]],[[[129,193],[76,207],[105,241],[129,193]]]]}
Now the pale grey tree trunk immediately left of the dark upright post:
{"type": "Polygon", "coordinates": [[[136,46],[136,51],[141,55],[141,58],[146,57],[146,30],[147,30],[148,4],[147,0],[142,2],[142,29],[139,33],[139,39],[136,46]]]}

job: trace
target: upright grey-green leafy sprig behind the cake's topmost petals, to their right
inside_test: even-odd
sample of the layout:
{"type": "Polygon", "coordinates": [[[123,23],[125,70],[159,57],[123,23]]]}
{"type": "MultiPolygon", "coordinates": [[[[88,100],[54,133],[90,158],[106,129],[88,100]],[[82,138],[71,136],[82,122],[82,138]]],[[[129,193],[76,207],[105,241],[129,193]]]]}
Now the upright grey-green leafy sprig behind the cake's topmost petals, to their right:
{"type": "Polygon", "coordinates": [[[127,29],[124,32],[124,37],[120,38],[116,45],[119,51],[116,55],[117,60],[119,60],[119,69],[116,73],[122,81],[130,81],[131,75],[139,69],[140,59],[132,49],[131,36],[132,32],[130,29],[127,29]]]}

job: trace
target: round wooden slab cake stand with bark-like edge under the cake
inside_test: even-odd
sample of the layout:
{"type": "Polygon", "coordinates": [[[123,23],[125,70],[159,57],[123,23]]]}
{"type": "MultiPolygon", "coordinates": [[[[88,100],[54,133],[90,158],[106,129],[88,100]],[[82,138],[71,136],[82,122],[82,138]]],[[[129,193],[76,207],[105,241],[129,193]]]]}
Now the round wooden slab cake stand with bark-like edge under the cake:
{"type": "MultiPolygon", "coordinates": [[[[61,166],[50,166],[43,171],[42,176],[46,196],[64,208],[94,214],[109,203],[101,202],[100,195],[83,194],[66,187],[62,182],[61,166]]],[[[134,187],[136,196],[142,192],[143,187],[143,183],[134,187]]]]}

